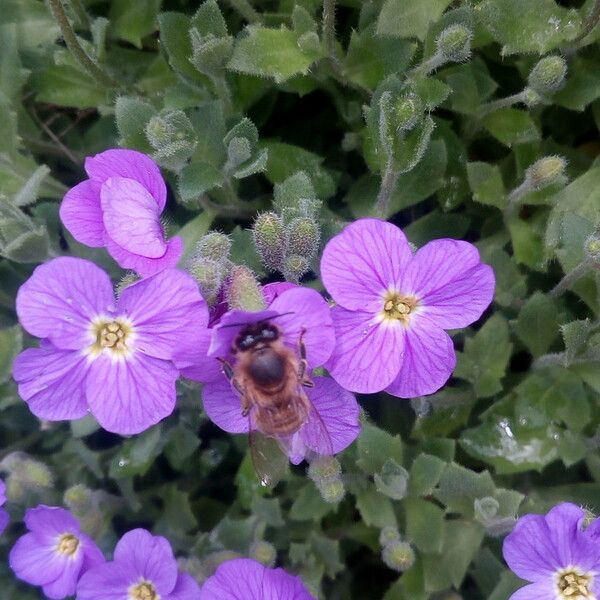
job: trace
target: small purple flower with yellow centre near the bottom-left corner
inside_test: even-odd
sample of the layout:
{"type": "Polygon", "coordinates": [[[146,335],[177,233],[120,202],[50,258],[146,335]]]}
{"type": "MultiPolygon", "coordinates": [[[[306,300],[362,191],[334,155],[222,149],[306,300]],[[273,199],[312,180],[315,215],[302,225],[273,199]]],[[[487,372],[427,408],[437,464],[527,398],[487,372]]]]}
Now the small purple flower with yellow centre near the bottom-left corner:
{"type": "Polygon", "coordinates": [[[29,509],[25,525],[29,533],[10,551],[10,568],[19,579],[41,586],[48,598],[73,595],[81,575],[104,562],[94,541],[64,508],[29,509]]]}

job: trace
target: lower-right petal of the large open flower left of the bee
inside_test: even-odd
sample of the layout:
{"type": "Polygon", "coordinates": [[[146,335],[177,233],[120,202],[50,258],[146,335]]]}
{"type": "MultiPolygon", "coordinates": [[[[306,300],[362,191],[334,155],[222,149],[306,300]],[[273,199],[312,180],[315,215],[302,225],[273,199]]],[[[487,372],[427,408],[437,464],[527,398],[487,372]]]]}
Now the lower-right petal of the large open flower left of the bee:
{"type": "Polygon", "coordinates": [[[104,429],[131,435],[175,410],[177,376],[177,369],[165,360],[134,353],[112,361],[103,354],[90,367],[86,396],[104,429]]]}

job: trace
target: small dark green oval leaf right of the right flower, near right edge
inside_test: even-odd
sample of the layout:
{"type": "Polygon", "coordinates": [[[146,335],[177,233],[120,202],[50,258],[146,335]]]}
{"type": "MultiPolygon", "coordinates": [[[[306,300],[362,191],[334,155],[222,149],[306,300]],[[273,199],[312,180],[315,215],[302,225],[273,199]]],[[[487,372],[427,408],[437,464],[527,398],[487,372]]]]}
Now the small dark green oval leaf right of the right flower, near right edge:
{"type": "Polygon", "coordinates": [[[515,331],[535,357],[548,351],[558,335],[558,309],[554,301],[536,292],[519,312],[515,331]]]}

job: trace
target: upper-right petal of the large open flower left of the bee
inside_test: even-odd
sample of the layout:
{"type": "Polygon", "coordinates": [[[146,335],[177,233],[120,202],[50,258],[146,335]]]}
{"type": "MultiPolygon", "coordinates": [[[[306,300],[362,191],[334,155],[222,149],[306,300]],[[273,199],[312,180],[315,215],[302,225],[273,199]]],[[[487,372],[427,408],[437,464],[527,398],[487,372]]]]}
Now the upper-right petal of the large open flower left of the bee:
{"type": "Polygon", "coordinates": [[[208,323],[198,285],[176,269],[126,287],[117,306],[134,324],[136,350],[155,358],[171,360],[182,343],[195,343],[208,323]]]}

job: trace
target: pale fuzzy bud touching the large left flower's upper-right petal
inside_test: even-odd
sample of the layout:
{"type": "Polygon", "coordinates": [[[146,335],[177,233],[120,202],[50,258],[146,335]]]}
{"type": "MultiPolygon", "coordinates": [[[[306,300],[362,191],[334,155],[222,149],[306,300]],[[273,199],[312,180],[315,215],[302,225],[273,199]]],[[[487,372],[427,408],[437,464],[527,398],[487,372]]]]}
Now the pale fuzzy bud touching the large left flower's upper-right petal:
{"type": "Polygon", "coordinates": [[[211,231],[197,244],[187,270],[198,283],[209,305],[217,302],[219,292],[230,271],[231,240],[218,231],[211,231]]]}

